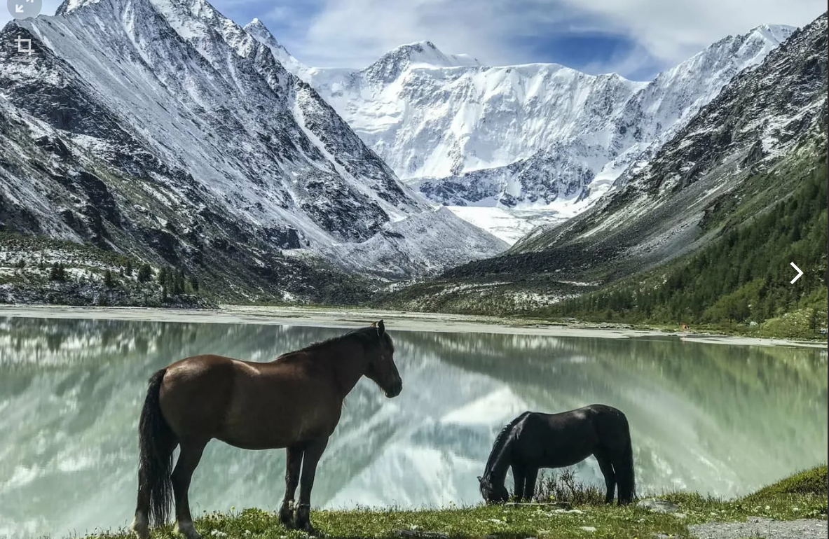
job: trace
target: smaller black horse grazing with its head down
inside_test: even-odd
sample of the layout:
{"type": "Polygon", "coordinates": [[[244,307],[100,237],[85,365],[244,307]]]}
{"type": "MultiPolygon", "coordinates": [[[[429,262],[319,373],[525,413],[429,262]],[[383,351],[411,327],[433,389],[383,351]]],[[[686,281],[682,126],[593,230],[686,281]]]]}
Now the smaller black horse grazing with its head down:
{"type": "Polygon", "coordinates": [[[591,404],[558,414],[525,411],[505,426],[492,445],[483,477],[478,477],[487,503],[509,498],[504,481],[512,467],[515,495],[531,499],[541,468],[564,468],[594,455],[608,488],[605,503],[613,503],[618,484],[618,503],[635,498],[633,448],[628,418],[616,408],[591,404]]]}

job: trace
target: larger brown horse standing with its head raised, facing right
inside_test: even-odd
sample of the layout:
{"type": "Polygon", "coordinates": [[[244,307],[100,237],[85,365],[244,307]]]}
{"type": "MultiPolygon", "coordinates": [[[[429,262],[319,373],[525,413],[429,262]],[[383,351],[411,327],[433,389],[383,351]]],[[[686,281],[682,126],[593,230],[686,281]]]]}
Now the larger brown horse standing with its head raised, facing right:
{"type": "Polygon", "coordinates": [[[397,397],[403,381],[394,352],[380,320],[269,363],[200,355],[153,374],[138,424],[133,532],[147,539],[149,524],[166,522],[174,501],[177,530],[187,539],[201,537],[193,527],[187,489],[202,451],[213,439],[249,450],[285,448],[288,462],[279,521],[313,532],[309,510],[314,474],[340,421],[342,401],[363,375],[386,397],[397,397]],[[180,452],[172,469],[177,445],[180,452]]]}

